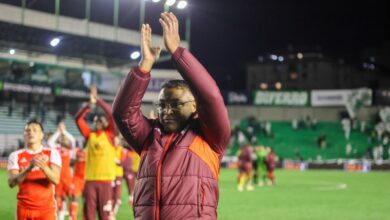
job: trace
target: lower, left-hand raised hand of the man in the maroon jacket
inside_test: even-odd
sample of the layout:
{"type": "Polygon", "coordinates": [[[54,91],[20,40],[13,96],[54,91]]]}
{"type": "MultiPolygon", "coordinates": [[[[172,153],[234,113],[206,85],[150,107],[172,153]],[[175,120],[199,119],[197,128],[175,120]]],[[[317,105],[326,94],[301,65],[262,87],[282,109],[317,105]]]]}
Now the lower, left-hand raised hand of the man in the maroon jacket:
{"type": "Polygon", "coordinates": [[[141,28],[141,62],[140,69],[145,72],[152,70],[153,64],[159,58],[161,47],[152,47],[152,28],[149,24],[143,24],[141,28]]]}

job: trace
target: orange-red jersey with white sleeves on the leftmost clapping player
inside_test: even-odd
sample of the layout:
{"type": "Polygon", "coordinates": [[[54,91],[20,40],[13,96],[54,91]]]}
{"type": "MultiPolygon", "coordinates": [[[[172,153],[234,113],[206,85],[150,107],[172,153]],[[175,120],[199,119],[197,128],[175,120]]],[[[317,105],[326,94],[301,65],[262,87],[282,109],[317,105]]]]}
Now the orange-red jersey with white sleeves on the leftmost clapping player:
{"type": "MultiPolygon", "coordinates": [[[[47,165],[61,167],[61,157],[57,150],[44,148],[38,151],[29,149],[17,150],[9,156],[8,170],[22,171],[26,169],[32,158],[38,154],[44,155],[47,165]]],[[[18,206],[27,209],[48,209],[55,208],[54,184],[47,178],[45,173],[38,167],[34,167],[19,184],[17,195],[18,206]]]]}

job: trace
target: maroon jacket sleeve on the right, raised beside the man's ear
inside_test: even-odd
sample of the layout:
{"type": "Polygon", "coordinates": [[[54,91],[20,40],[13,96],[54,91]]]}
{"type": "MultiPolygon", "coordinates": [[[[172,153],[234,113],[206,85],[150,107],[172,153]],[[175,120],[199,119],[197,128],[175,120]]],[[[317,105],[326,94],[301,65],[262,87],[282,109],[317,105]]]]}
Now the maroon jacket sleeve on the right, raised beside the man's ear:
{"type": "Polygon", "coordinates": [[[200,127],[206,141],[222,155],[230,138],[230,123],[217,84],[187,49],[179,47],[172,60],[195,96],[200,127]]]}

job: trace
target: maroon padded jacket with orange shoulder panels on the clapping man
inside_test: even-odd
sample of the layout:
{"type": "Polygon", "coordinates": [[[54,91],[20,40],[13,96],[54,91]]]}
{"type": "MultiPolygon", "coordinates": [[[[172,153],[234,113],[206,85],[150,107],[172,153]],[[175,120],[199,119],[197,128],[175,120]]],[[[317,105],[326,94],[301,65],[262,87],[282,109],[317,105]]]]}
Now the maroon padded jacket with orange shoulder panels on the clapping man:
{"type": "Polygon", "coordinates": [[[150,74],[133,69],[119,90],[114,120],[141,155],[134,192],[135,219],[217,219],[219,165],[230,125],[221,93],[207,70],[184,48],[172,55],[197,102],[198,117],[180,133],[165,134],[140,107],[150,74]]]}

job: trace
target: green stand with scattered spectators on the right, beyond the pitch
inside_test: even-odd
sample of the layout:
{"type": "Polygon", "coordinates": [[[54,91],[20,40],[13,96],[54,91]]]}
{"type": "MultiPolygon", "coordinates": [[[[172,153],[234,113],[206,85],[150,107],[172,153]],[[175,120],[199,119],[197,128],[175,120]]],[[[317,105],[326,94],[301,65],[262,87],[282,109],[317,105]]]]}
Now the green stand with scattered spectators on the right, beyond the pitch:
{"type": "MultiPolygon", "coordinates": [[[[382,113],[383,115],[384,113],[382,113]]],[[[387,160],[390,154],[390,126],[378,120],[366,122],[343,117],[336,122],[318,122],[307,116],[287,122],[241,120],[232,129],[231,155],[241,146],[272,145],[281,159],[372,159],[387,160]]]]}

